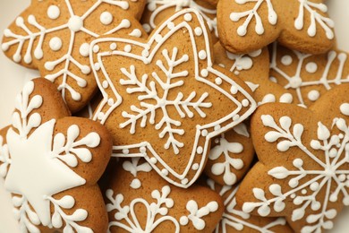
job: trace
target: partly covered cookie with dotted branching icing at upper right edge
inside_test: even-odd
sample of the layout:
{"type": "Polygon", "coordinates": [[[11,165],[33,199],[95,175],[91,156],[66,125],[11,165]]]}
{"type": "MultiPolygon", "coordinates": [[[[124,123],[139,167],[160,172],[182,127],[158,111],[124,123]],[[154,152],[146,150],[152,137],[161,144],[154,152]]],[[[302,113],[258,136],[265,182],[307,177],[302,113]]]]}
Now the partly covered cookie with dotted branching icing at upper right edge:
{"type": "Polygon", "coordinates": [[[277,43],[271,50],[270,79],[290,91],[295,103],[309,107],[334,86],[349,82],[349,59],[344,52],[303,54],[277,43]]]}

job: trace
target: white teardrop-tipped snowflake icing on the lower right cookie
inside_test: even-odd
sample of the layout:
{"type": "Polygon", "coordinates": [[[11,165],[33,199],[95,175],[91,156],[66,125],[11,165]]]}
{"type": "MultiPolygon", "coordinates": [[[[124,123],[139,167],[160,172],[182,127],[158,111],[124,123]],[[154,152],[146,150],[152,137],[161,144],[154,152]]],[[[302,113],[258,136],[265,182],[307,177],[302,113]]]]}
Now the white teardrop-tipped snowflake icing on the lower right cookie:
{"type": "MultiPolygon", "coordinates": [[[[340,106],[341,113],[349,116],[349,104],[340,106]]],[[[288,200],[292,200],[294,209],[291,220],[304,220],[302,232],[320,232],[332,229],[337,210],[331,203],[340,202],[349,205],[348,175],[349,163],[349,127],[345,118],[336,117],[328,128],[318,122],[317,138],[310,145],[303,142],[302,135],[308,131],[306,125],[294,123],[289,116],[281,116],[278,124],[273,116],[262,115],[262,124],[271,130],[265,134],[267,142],[277,142],[277,151],[286,152],[298,148],[303,155],[293,159],[292,166],[279,166],[268,170],[268,175],[285,182],[268,186],[266,191],[252,189],[257,202],[243,203],[243,211],[257,210],[260,216],[268,216],[271,209],[284,211],[288,200]],[[293,125],[294,124],[294,125],[293,125]],[[293,126],[292,126],[293,125],[293,126]],[[311,160],[305,163],[305,160],[311,160]],[[288,182],[287,182],[288,181],[288,182]],[[340,200],[339,200],[340,199],[340,200]],[[332,206],[332,207],[331,207],[332,206]]]]}

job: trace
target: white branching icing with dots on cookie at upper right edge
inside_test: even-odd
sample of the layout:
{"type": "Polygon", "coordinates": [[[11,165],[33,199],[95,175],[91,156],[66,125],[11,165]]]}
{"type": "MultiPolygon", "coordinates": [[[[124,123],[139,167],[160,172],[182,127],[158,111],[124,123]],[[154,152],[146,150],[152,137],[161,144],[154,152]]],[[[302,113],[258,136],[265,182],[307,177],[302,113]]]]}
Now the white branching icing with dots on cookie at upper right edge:
{"type": "MultiPolygon", "coordinates": [[[[278,65],[277,58],[278,54],[278,45],[277,43],[273,44],[272,56],[271,56],[271,64],[270,69],[272,69],[275,73],[277,73],[277,79],[284,79],[287,83],[285,84],[285,89],[294,89],[296,93],[297,100],[303,106],[306,106],[305,100],[303,99],[302,88],[315,86],[314,89],[318,89],[317,87],[322,86],[325,90],[332,89],[331,85],[336,84],[340,85],[345,82],[349,82],[349,80],[344,77],[344,67],[347,56],[345,53],[337,54],[335,51],[328,52],[327,63],[322,71],[319,73],[319,78],[317,80],[307,81],[308,76],[306,73],[302,74],[302,70],[305,69],[308,73],[315,73],[318,71],[318,65],[313,62],[309,62],[307,65],[305,64],[306,60],[312,57],[311,54],[302,54],[298,51],[293,50],[292,53],[297,58],[297,66],[294,69],[294,73],[289,74],[283,70],[282,67],[278,65]],[[331,75],[336,74],[336,75],[331,75]],[[333,78],[330,78],[333,77],[333,78]]],[[[284,57],[284,56],[283,56],[284,57]]],[[[283,64],[283,57],[281,58],[281,63],[283,64]]],[[[311,101],[315,101],[318,98],[318,93],[312,91],[308,93],[307,97],[311,101]],[[315,100],[314,100],[315,99],[315,100]]]]}

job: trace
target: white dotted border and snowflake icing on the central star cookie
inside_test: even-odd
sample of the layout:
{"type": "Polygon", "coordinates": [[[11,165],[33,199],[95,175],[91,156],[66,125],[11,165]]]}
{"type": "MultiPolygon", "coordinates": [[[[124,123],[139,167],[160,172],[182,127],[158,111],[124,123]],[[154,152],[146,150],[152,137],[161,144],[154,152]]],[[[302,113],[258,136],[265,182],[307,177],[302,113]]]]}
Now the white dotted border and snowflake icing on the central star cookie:
{"type": "MultiPolygon", "coordinates": [[[[185,18],[189,19],[190,17],[186,16],[185,18]]],[[[153,149],[149,142],[140,141],[139,143],[132,145],[114,146],[115,157],[124,157],[125,155],[122,153],[122,151],[125,148],[132,148],[135,150],[140,147],[144,148],[144,151],[142,152],[132,152],[130,154],[127,154],[127,156],[144,157],[149,161],[151,161],[151,158],[156,157],[157,163],[154,164],[150,162],[150,165],[157,170],[160,176],[164,177],[167,181],[174,184],[175,186],[191,186],[195,179],[199,177],[200,172],[203,169],[204,161],[207,160],[209,139],[234,127],[234,125],[239,124],[247,116],[250,116],[253,110],[256,108],[255,101],[251,98],[250,94],[247,91],[244,91],[242,87],[238,86],[232,78],[227,77],[223,73],[219,73],[212,67],[213,64],[211,61],[211,51],[209,46],[209,32],[206,29],[205,23],[206,22],[202,19],[200,13],[192,9],[187,9],[179,13],[174,13],[173,16],[171,16],[168,20],[166,20],[166,22],[160,25],[155,32],[153,32],[151,38],[149,38],[149,42],[147,42],[146,44],[142,44],[138,41],[132,41],[130,39],[108,38],[96,39],[92,42],[91,46],[93,47],[98,43],[106,42],[110,44],[120,43],[124,45],[117,46],[113,51],[99,51],[96,56],[92,56],[92,58],[97,59],[93,60],[92,62],[98,65],[98,67],[100,68],[99,72],[106,71],[106,67],[103,65],[103,59],[105,56],[131,57],[143,62],[144,65],[154,65],[154,67],[156,67],[156,69],[143,69],[141,67],[138,68],[135,65],[130,65],[129,67],[123,67],[120,65],[118,67],[120,68],[121,73],[123,73],[123,79],[121,79],[120,82],[117,83],[116,87],[120,88],[122,86],[125,86],[124,89],[127,94],[132,94],[135,92],[138,93],[139,96],[138,99],[133,99],[135,100],[135,102],[132,107],[130,107],[130,109],[124,109],[124,112],[122,113],[124,121],[121,121],[119,127],[127,127],[130,130],[130,134],[137,134],[136,130],[138,132],[146,126],[154,127],[154,129],[158,131],[157,134],[159,138],[165,139],[164,150],[170,149],[174,154],[180,154],[180,151],[184,146],[184,142],[182,142],[181,140],[181,136],[182,134],[184,134],[184,130],[181,125],[185,124],[184,122],[186,121],[186,119],[191,118],[192,116],[197,116],[205,119],[207,108],[211,108],[213,104],[206,100],[209,98],[209,93],[206,92],[200,93],[197,91],[192,91],[192,93],[184,97],[184,94],[180,92],[179,87],[182,87],[185,82],[188,82],[188,79],[191,80],[195,77],[196,81],[206,83],[209,87],[212,88],[212,90],[223,93],[227,98],[232,100],[234,106],[238,106],[237,109],[232,109],[232,112],[229,115],[218,119],[216,122],[208,123],[208,125],[198,125],[196,127],[195,130],[197,134],[195,135],[195,138],[192,139],[193,141],[185,142],[191,144],[192,153],[188,155],[188,158],[190,157],[190,160],[187,167],[183,171],[183,174],[178,174],[177,172],[175,172],[174,168],[169,167],[168,164],[166,164],[166,161],[162,160],[161,155],[157,154],[157,151],[153,149]],[[177,18],[184,18],[185,15],[188,14],[192,16],[192,21],[183,22],[182,19],[181,21],[174,21],[177,18]],[[172,30],[169,30],[168,25],[172,24],[173,28],[172,30]],[[199,37],[196,36],[194,32],[194,30],[198,27],[200,27],[202,30],[202,35],[199,37]],[[165,46],[166,40],[171,39],[175,32],[182,31],[183,28],[187,31],[185,35],[188,35],[188,38],[192,43],[191,46],[193,48],[196,48],[193,49],[194,54],[191,56],[183,54],[181,56],[178,55],[178,51],[183,48],[181,43],[175,45],[178,47],[165,46]],[[161,35],[161,38],[157,35],[161,35]],[[141,49],[132,49],[130,53],[127,53],[123,49],[126,46],[142,47],[143,52],[141,52],[141,49]],[[149,47],[152,47],[151,50],[149,50],[149,47]],[[204,60],[201,60],[199,57],[200,51],[205,51],[206,53],[206,58],[204,60]],[[153,57],[156,54],[158,54],[159,56],[157,56],[157,60],[153,60],[153,57]],[[195,64],[193,64],[194,66],[192,67],[192,70],[194,70],[195,73],[193,73],[194,75],[190,77],[188,76],[188,71],[183,69],[183,65],[188,62],[188,59],[195,59],[196,61],[195,64]],[[144,70],[149,70],[149,73],[144,73],[144,70]],[[160,70],[161,73],[157,74],[157,70],[160,70]],[[160,79],[159,77],[163,78],[160,79]],[[205,77],[214,77],[213,82],[209,82],[209,79],[205,79],[205,77]],[[214,80],[217,77],[222,80],[221,86],[223,87],[219,87],[216,85],[216,83],[214,83],[214,80]],[[163,90],[163,93],[161,95],[158,95],[157,89],[163,90]],[[172,92],[174,90],[179,91],[174,94],[176,98],[166,99],[167,94],[171,93],[171,95],[173,95],[172,92]],[[241,116],[239,116],[238,113],[243,108],[243,105],[229,93],[230,90],[234,91],[234,94],[238,92],[243,94],[243,99],[247,99],[250,102],[249,107],[247,107],[247,111],[243,112],[241,116]],[[137,100],[139,100],[139,102],[137,100]],[[141,106],[139,106],[139,104],[141,104],[141,106]],[[167,106],[173,106],[175,110],[172,112],[167,112],[167,106]],[[162,112],[160,117],[156,117],[158,112],[162,112]],[[174,114],[178,114],[177,116],[180,117],[176,119],[174,118],[174,114]],[[203,134],[204,132],[205,134],[203,134]],[[200,142],[200,137],[205,138],[202,143],[200,142]],[[202,154],[200,154],[200,156],[196,156],[198,148],[200,146],[202,147],[202,154]],[[195,163],[200,164],[200,168],[197,169],[194,175],[189,175],[189,170],[192,170],[192,165],[195,163]],[[165,176],[161,172],[163,168],[166,168],[166,170],[168,170],[168,176],[165,176]]],[[[123,99],[129,97],[120,96],[120,94],[116,91],[117,88],[115,88],[116,83],[112,82],[113,79],[107,75],[107,72],[103,72],[103,75],[101,75],[101,73],[99,72],[94,69],[94,73],[97,76],[98,87],[100,91],[103,92],[104,100],[99,105],[94,119],[98,119],[102,124],[105,124],[106,120],[108,120],[108,117],[115,110],[115,108],[120,106],[120,104],[123,102],[123,99]],[[112,95],[108,94],[103,88],[102,83],[104,81],[107,81],[109,83],[108,86],[112,88],[112,95]],[[110,108],[104,108],[107,106],[108,99],[110,98],[115,99],[115,104],[110,108]]]]}

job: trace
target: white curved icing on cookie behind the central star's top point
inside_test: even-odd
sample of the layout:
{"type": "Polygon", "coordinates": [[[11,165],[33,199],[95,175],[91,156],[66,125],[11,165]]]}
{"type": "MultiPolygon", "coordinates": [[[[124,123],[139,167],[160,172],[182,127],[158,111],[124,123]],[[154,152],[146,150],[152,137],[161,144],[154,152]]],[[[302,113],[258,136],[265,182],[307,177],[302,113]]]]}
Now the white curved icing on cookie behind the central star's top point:
{"type": "Polygon", "coordinates": [[[157,16],[171,7],[174,7],[175,12],[181,11],[185,8],[192,8],[199,11],[208,23],[209,30],[218,38],[216,18],[217,10],[214,8],[206,8],[205,6],[198,4],[195,0],[148,0],[146,9],[151,12],[151,15],[149,23],[145,22],[143,28],[147,32],[154,30],[157,27],[155,23],[157,16]]]}

